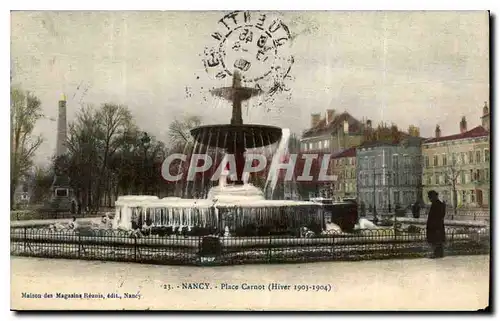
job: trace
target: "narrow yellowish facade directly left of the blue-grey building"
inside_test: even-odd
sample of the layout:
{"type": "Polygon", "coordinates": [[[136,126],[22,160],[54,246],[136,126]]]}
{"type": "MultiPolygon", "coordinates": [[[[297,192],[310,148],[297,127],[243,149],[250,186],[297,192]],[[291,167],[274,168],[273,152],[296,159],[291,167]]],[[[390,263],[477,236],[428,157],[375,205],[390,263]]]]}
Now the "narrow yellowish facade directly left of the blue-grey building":
{"type": "Polygon", "coordinates": [[[342,201],[346,198],[356,198],[356,147],[333,155],[330,167],[334,177],[332,199],[342,201]]]}

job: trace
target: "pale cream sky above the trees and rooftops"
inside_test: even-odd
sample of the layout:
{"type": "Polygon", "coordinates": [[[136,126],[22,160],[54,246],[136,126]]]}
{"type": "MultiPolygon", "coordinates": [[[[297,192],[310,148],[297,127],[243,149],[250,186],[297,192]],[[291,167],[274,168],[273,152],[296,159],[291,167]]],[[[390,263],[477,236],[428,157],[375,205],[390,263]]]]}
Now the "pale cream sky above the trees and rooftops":
{"type": "MultiPolygon", "coordinates": [[[[188,115],[205,124],[229,122],[230,104],[208,93],[228,85],[228,78],[211,78],[203,64],[227,13],[13,12],[12,83],[38,96],[46,115],[35,128],[45,138],[37,162],[54,154],[56,122],[50,118],[57,116],[61,93],[69,122],[85,104],[124,104],[141,129],[164,141],[168,125],[188,115]]],[[[457,133],[462,116],[469,128],[480,125],[489,97],[487,12],[264,14],[268,22],[281,19],[293,36],[278,53],[294,58],[290,90],[273,101],[249,100],[245,123],[300,134],[311,113],[335,109],[375,124],[415,125],[425,137],[436,124],[442,135],[457,133]]]]}

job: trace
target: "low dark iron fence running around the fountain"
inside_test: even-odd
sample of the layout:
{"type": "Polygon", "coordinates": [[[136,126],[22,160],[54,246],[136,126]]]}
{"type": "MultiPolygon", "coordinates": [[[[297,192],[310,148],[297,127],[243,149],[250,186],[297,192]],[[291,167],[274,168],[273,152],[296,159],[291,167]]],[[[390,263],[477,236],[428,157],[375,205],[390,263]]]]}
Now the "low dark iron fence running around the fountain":
{"type": "MultiPolygon", "coordinates": [[[[447,255],[489,253],[487,228],[447,228],[447,255]]],[[[416,258],[431,253],[425,229],[336,232],[311,238],[291,236],[217,237],[148,236],[131,232],[51,231],[11,228],[11,255],[154,264],[232,265],[336,260],[416,258]]]]}

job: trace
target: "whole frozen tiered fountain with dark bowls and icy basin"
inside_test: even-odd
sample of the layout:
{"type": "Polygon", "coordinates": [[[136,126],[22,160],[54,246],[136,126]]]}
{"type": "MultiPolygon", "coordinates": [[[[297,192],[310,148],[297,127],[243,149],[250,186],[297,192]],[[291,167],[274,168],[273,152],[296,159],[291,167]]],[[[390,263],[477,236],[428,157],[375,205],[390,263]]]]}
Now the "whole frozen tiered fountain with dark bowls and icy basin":
{"type": "MultiPolygon", "coordinates": [[[[233,155],[235,177],[221,173],[217,186],[204,199],[123,196],[116,202],[113,226],[121,229],[167,228],[174,231],[203,229],[210,234],[236,236],[295,233],[301,227],[320,232],[324,227],[321,205],[314,202],[268,200],[244,173],[247,149],[261,148],[279,142],[282,129],[274,126],[244,124],[241,103],[261,94],[255,88],[241,86],[235,71],[231,87],[217,88],[212,95],[232,102],[230,124],[206,125],[191,130],[197,144],[222,149],[233,155]]],[[[275,179],[271,182],[276,185],[275,179]]]]}

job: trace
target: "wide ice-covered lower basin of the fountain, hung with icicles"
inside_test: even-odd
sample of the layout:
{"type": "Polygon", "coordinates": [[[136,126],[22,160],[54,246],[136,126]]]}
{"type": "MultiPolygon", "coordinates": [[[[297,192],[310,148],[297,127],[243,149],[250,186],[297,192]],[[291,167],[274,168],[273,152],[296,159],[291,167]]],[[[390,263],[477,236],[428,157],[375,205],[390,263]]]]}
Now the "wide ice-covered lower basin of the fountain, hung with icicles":
{"type": "MultiPolygon", "coordinates": [[[[142,228],[206,228],[222,234],[226,227],[231,234],[242,233],[250,227],[261,231],[298,230],[303,226],[324,227],[320,204],[290,200],[266,200],[262,195],[249,193],[242,197],[241,190],[256,191],[243,185],[225,187],[235,194],[220,194],[208,199],[141,199],[120,197],[116,205],[113,228],[132,230],[142,228]]],[[[212,195],[217,195],[212,193],[212,195]]]]}

